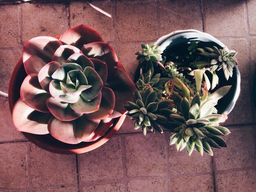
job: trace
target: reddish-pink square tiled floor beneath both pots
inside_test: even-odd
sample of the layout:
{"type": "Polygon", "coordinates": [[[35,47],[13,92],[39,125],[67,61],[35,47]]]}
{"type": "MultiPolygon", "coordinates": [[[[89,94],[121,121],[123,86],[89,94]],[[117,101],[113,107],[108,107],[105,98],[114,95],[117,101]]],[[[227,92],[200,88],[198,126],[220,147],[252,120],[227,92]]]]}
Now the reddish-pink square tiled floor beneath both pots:
{"type": "Polygon", "coordinates": [[[255,191],[256,111],[252,83],[256,65],[256,0],[104,0],[0,5],[0,91],[7,93],[22,45],[34,36],[56,36],[86,24],[115,47],[133,78],[134,53],[178,29],[198,29],[236,49],[241,93],[225,123],[227,149],[200,157],[168,146],[169,133],[147,134],[125,120],[105,145],[79,155],[41,150],[15,130],[8,100],[0,96],[0,191],[165,192],[255,191]]]}

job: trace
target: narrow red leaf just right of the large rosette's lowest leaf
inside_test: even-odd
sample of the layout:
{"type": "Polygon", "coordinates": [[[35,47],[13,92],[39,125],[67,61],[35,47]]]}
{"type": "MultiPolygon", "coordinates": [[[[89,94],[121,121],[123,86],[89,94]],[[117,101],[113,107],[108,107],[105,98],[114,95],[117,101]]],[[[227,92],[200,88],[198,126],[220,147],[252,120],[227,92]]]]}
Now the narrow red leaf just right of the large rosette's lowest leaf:
{"type": "Polygon", "coordinates": [[[110,127],[113,125],[113,120],[104,123],[101,121],[98,125],[98,127],[84,140],[84,142],[92,142],[96,141],[97,139],[101,138],[106,134],[106,132],[110,129],[110,127]]]}

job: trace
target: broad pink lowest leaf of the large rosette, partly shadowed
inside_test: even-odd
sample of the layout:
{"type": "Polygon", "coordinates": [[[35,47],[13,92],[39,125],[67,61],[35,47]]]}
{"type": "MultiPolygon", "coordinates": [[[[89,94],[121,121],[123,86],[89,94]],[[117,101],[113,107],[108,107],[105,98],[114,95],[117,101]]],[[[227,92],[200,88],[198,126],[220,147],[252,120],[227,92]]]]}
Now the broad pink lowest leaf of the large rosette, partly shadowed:
{"type": "Polygon", "coordinates": [[[99,123],[100,121],[90,121],[83,116],[73,121],[59,121],[52,117],[48,123],[48,130],[59,141],[77,144],[90,136],[99,123]]]}

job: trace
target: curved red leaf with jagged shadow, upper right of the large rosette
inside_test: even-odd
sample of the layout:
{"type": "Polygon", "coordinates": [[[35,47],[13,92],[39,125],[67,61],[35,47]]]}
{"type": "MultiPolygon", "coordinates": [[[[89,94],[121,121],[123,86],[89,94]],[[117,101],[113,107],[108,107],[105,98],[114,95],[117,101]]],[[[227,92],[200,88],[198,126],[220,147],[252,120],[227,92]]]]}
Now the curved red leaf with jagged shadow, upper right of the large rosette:
{"type": "Polygon", "coordinates": [[[92,42],[84,45],[83,54],[89,58],[96,58],[106,63],[108,79],[112,79],[118,72],[118,59],[114,49],[106,42],[92,42]]]}

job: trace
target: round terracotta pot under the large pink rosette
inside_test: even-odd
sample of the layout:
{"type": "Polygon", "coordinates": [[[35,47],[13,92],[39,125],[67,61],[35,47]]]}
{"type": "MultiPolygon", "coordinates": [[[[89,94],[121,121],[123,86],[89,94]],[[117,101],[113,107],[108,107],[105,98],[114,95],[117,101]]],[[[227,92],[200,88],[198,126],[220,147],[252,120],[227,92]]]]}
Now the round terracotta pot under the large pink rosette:
{"type": "MultiPolygon", "coordinates": [[[[120,68],[124,69],[120,62],[118,63],[118,65],[120,68]]],[[[13,110],[13,105],[20,98],[20,87],[26,76],[27,73],[25,71],[22,59],[20,59],[13,70],[9,83],[8,100],[11,112],[13,110]]],[[[79,144],[73,145],[58,141],[55,138],[53,138],[50,134],[36,135],[26,132],[22,132],[22,134],[32,143],[49,152],[59,154],[80,154],[94,150],[97,147],[106,143],[121,127],[125,117],[125,115],[122,115],[119,118],[113,119],[113,125],[110,127],[105,136],[102,136],[101,138],[93,142],[81,142],[79,144]]]]}

